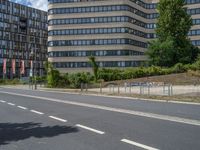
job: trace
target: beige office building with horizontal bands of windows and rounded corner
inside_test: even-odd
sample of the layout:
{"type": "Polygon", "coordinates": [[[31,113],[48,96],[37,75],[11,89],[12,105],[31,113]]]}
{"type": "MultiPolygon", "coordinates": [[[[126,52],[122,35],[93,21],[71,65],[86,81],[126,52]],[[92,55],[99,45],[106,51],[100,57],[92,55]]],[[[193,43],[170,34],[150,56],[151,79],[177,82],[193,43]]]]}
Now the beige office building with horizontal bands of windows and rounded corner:
{"type": "MultiPolygon", "coordinates": [[[[60,72],[90,71],[89,56],[100,67],[144,64],[149,40],[156,38],[156,0],[49,0],[48,60],[60,72]]],[[[187,0],[200,46],[200,1],[187,0]]]]}

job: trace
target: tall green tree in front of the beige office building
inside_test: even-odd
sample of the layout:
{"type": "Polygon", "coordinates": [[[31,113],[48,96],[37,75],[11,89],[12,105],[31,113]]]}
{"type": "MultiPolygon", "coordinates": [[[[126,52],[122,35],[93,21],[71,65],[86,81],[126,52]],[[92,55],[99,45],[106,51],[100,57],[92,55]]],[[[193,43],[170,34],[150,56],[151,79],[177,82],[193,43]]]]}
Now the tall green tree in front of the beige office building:
{"type": "Polygon", "coordinates": [[[154,65],[172,66],[191,63],[200,52],[188,38],[192,26],[185,0],[160,0],[156,34],[158,39],[149,43],[147,54],[154,65]]]}

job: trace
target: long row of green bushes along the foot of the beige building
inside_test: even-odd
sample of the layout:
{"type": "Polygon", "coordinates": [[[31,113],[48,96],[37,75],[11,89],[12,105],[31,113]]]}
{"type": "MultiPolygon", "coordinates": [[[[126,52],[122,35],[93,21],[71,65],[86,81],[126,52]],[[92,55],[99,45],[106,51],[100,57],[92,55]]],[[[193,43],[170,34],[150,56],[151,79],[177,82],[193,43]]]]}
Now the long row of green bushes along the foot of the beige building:
{"type": "MultiPolygon", "coordinates": [[[[140,78],[155,75],[167,75],[172,73],[183,73],[188,70],[200,70],[200,58],[193,64],[183,65],[178,63],[170,68],[161,68],[159,66],[150,67],[137,67],[121,69],[105,69],[98,70],[99,81],[115,81],[126,80],[131,78],[140,78]]],[[[44,81],[45,77],[38,78],[37,80],[44,81]]],[[[59,71],[52,69],[47,76],[49,87],[71,87],[80,88],[81,83],[92,83],[95,80],[94,76],[90,73],[73,73],[61,75],[59,71]]],[[[0,83],[5,82],[0,80],[0,83]]]]}

